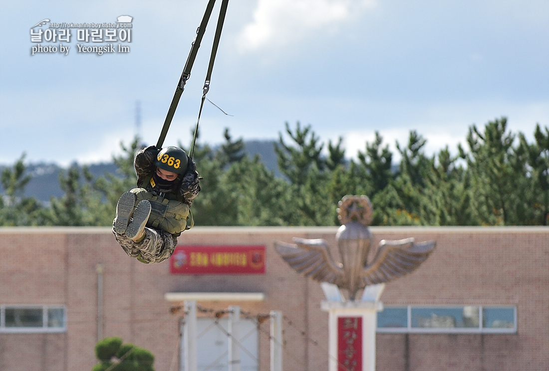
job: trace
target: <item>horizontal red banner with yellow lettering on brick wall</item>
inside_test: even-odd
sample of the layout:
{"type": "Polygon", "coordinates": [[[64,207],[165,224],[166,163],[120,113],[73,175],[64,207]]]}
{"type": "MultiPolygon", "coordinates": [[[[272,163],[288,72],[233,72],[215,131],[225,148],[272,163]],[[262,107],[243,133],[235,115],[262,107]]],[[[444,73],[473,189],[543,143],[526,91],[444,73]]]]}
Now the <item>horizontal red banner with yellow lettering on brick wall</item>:
{"type": "Polygon", "coordinates": [[[265,246],[177,246],[171,274],[265,274],[265,246]]]}

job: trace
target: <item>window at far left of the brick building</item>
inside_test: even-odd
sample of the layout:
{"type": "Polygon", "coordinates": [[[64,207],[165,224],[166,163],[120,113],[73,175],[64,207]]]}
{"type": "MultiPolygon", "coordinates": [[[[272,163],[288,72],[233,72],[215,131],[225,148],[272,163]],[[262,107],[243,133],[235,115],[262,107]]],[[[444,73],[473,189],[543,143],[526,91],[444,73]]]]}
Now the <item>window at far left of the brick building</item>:
{"type": "Polygon", "coordinates": [[[65,330],[65,307],[0,306],[0,333],[55,333],[65,330]]]}

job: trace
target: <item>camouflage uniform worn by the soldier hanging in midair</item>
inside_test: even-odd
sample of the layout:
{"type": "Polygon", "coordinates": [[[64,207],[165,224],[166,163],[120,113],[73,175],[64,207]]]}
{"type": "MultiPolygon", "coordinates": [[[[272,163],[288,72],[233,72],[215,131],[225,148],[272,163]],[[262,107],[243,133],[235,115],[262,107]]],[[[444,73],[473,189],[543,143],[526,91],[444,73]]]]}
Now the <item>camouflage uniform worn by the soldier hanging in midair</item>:
{"type": "MultiPolygon", "coordinates": [[[[155,160],[158,153],[159,149],[155,146],[150,146],[138,151],[133,161],[137,173],[137,184],[142,184],[148,178],[152,177],[156,171],[155,160]]],[[[177,205],[177,209],[180,210],[180,215],[177,220],[168,220],[168,217],[165,217],[165,220],[163,220],[159,215],[154,216],[153,211],[150,220],[147,221],[147,227],[145,227],[145,237],[139,242],[135,242],[127,237],[126,233],[117,233],[115,231],[115,219],[113,221],[113,234],[126,254],[131,257],[136,257],[139,261],[144,263],[159,263],[173,254],[173,250],[177,245],[177,237],[181,232],[190,228],[187,226],[187,218],[190,213],[189,207],[200,192],[199,179],[194,162],[189,159],[186,172],[181,178],[178,178],[177,181],[175,181],[181,183],[178,186],[176,185],[176,187],[173,187],[170,192],[159,192],[159,190],[156,189],[158,187],[153,186],[154,182],[148,182],[148,184],[145,184],[144,188],[134,188],[130,191],[136,195],[135,204],[142,199],[149,199],[155,204],[153,200],[158,198],[160,203],[156,204],[159,204],[160,206],[162,206],[162,200],[164,200],[164,204],[170,202],[172,205],[177,205]],[[153,220],[156,220],[154,224],[152,223],[153,220]],[[158,226],[159,221],[162,226],[166,225],[166,221],[168,222],[167,225],[170,227],[166,228],[168,229],[168,232],[158,226]]],[[[153,210],[154,209],[155,207],[153,207],[153,210]]],[[[156,209],[158,209],[158,207],[156,207],[156,209]]]]}

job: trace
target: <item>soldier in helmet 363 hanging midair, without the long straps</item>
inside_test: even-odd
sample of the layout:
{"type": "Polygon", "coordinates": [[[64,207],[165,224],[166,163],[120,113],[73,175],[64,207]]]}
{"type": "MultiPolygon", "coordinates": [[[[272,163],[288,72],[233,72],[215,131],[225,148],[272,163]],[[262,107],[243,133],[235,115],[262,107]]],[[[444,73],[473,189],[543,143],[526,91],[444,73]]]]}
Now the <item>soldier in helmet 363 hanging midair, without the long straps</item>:
{"type": "Polygon", "coordinates": [[[133,161],[137,184],[116,205],[113,233],[126,254],[143,263],[158,263],[173,254],[177,237],[193,226],[191,205],[200,192],[200,177],[184,150],[154,145],[133,161]]]}

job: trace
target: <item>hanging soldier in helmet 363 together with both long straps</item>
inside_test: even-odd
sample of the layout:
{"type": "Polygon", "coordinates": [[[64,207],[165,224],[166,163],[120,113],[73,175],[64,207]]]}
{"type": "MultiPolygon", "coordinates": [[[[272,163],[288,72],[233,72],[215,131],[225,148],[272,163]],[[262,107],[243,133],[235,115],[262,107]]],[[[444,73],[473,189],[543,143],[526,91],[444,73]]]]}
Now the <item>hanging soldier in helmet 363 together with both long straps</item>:
{"type": "Polygon", "coordinates": [[[221,3],[190,155],[187,156],[187,153],[178,147],[161,147],[184,86],[191,76],[194,59],[214,3],[215,0],[209,0],[206,5],[204,17],[198,27],[197,36],[192,43],[191,52],[189,52],[175,94],[173,94],[158,142],[156,145],[140,150],[133,160],[137,172],[138,188],[122,194],[116,205],[116,217],[113,221],[115,238],[126,254],[136,257],[143,263],[158,263],[169,258],[177,244],[177,237],[194,224],[190,207],[200,192],[199,182],[201,179],[192,160],[194,145],[200,114],[210,87],[211,73],[214,68],[228,0],[222,0],[221,3]]]}

